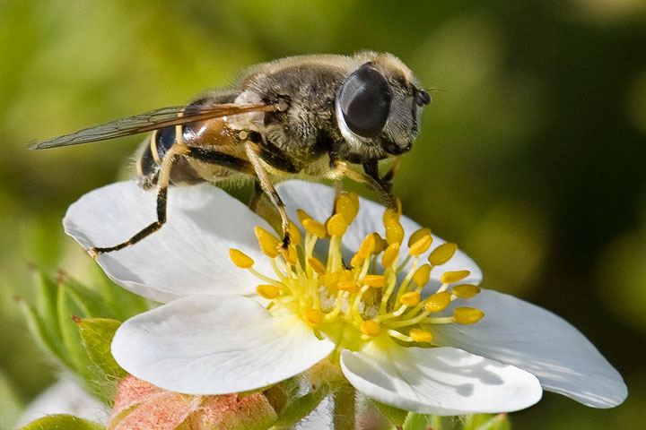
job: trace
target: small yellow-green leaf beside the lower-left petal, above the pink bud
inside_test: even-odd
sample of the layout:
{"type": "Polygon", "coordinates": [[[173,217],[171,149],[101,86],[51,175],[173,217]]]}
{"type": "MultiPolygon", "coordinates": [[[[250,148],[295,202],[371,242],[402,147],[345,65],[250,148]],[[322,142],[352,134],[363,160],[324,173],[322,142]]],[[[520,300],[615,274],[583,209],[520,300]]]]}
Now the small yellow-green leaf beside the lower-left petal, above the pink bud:
{"type": "Polygon", "coordinates": [[[104,379],[125,377],[127,372],[118,366],[110,353],[110,343],[121,323],[106,318],[92,318],[77,320],[76,324],[81,334],[83,347],[92,363],[99,367],[104,379]]]}

